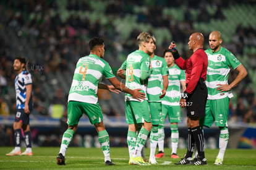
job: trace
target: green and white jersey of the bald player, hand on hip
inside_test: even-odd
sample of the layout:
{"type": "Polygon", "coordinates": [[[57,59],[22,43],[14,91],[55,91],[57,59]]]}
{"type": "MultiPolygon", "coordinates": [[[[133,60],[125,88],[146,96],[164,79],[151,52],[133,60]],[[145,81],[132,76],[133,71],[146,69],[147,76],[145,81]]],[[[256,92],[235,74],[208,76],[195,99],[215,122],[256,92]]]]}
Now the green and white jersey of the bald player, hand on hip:
{"type": "Polygon", "coordinates": [[[207,80],[205,84],[208,88],[208,100],[216,100],[233,97],[231,91],[221,92],[216,90],[217,84],[228,83],[230,67],[236,69],[241,62],[228,49],[221,47],[219,51],[213,53],[211,49],[205,50],[208,56],[207,80]]]}

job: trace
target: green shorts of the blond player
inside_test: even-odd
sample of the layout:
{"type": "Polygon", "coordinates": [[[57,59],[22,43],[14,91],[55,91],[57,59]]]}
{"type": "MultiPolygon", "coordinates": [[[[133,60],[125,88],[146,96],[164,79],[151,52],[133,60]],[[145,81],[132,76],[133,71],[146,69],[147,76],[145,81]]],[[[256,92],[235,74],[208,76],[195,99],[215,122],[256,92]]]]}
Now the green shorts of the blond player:
{"type": "Polygon", "coordinates": [[[140,124],[144,121],[151,122],[148,101],[126,101],[126,123],[140,124]]]}

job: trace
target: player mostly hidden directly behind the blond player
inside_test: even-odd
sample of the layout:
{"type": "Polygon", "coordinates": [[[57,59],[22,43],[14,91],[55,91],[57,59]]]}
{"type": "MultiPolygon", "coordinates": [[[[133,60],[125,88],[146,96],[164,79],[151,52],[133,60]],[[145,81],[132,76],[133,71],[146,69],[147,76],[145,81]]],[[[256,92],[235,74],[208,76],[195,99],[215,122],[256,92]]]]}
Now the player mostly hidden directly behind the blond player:
{"type": "MultiPolygon", "coordinates": [[[[152,40],[156,49],[156,39],[154,36],[152,36],[152,40]]],[[[154,53],[150,54],[150,62],[152,72],[148,78],[147,95],[152,119],[152,128],[150,131],[150,158],[148,163],[157,164],[155,151],[158,142],[158,126],[161,123],[161,98],[166,95],[166,90],[168,88],[168,66],[163,57],[156,56],[154,53]],[[163,89],[161,88],[161,83],[163,83],[163,89]]]]}

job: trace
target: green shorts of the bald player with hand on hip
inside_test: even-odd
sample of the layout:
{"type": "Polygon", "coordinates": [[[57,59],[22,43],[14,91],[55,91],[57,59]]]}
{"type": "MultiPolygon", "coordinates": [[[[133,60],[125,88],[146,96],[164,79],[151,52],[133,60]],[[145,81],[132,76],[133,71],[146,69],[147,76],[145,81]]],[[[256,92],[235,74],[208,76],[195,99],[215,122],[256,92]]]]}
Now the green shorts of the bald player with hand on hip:
{"type": "Polygon", "coordinates": [[[228,125],[228,107],[229,98],[222,98],[218,100],[207,100],[205,106],[205,117],[201,120],[200,124],[205,127],[211,127],[213,122],[218,127],[224,127],[228,125]]]}

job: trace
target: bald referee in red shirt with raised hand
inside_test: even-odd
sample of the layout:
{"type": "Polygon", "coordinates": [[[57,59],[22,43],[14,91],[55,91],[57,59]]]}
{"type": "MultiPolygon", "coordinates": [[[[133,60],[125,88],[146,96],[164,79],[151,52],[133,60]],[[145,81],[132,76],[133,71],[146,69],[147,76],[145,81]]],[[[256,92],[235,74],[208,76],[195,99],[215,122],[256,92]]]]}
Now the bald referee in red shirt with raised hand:
{"type": "Polygon", "coordinates": [[[203,132],[199,125],[200,117],[205,116],[205,104],[208,94],[204,82],[207,77],[208,59],[207,54],[203,51],[203,41],[202,33],[196,32],[189,36],[189,49],[194,53],[186,60],[179,56],[176,45],[173,42],[169,46],[177,66],[186,70],[187,84],[187,88],[182,93],[179,101],[182,108],[187,107],[187,153],[181,161],[175,164],[207,164],[203,147],[203,132]],[[198,156],[197,159],[192,160],[194,143],[198,150],[198,156]]]}

